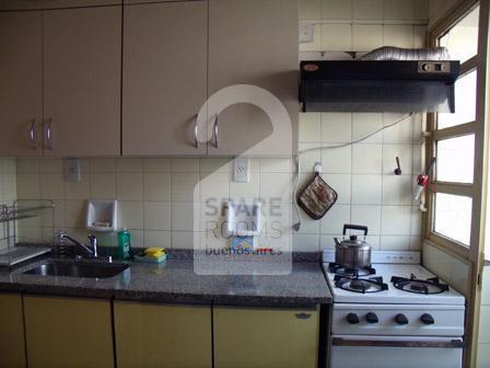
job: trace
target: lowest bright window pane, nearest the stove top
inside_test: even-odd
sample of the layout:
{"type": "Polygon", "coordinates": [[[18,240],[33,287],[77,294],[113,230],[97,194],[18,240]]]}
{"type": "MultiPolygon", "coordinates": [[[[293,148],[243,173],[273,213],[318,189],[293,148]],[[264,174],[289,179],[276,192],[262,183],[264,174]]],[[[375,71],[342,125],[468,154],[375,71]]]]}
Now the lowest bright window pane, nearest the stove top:
{"type": "Polygon", "coordinates": [[[471,198],[436,193],[434,205],[434,231],[469,245],[471,198]]]}

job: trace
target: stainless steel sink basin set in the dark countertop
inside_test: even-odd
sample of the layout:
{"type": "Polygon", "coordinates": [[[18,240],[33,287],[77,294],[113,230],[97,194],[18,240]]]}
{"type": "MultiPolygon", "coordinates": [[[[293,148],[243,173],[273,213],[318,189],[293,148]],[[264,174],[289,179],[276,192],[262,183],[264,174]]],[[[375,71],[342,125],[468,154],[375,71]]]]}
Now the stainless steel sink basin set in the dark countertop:
{"type": "Polygon", "coordinates": [[[88,278],[108,278],[129,268],[125,263],[107,263],[96,261],[46,261],[24,272],[26,275],[68,276],[88,278]]]}

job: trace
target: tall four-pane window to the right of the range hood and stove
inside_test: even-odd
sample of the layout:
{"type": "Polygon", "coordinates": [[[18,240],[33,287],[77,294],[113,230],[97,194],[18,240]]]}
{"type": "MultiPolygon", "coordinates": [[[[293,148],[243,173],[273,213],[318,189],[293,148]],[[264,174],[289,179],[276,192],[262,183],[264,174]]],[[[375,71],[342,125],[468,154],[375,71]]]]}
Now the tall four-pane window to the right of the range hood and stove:
{"type": "Polygon", "coordinates": [[[434,45],[447,47],[451,59],[460,61],[462,72],[455,83],[455,114],[429,117],[433,134],[427,152],[436,163],[428,195],[428,238],[459,254],[469,254],[475,210],[478,22],[479,5],[474,4],[439,35],[432,34],[434,45]]]}

